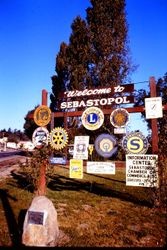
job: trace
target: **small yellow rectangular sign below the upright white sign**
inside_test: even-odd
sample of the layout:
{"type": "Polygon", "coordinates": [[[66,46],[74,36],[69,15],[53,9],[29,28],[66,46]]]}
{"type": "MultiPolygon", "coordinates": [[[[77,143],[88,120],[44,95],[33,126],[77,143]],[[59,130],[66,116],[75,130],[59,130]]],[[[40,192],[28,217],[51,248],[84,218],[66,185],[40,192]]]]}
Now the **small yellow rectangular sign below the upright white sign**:
{"type": "Polygon", "coordinates": [[[83,160],[70,159],[70,178],[83,178],[83,160]]]}

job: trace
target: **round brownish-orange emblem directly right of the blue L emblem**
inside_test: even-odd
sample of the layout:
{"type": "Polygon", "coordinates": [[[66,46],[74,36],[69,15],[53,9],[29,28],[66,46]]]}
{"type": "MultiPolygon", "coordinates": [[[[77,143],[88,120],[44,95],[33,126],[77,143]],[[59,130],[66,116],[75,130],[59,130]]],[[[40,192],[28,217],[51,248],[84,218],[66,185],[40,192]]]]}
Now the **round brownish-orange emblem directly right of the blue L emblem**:
{"type": "Polygon", "coordinates": [[[126,109],[115,109],[110,115],[110,122],[114,127],[125,127],[129,122],[129,113],[126,109]]]}

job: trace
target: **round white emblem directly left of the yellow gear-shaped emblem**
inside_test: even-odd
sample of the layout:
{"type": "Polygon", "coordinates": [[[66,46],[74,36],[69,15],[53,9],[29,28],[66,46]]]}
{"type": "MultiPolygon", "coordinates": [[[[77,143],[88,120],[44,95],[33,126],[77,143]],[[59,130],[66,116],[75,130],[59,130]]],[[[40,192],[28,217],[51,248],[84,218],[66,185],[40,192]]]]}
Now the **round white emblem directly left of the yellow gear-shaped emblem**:
{"type": "Polygon", "coordinates": [[[36,148],[42,148],[48,145],[49,131],[44,127],[39,127],[34,130],[32,142],[36,148]]]}

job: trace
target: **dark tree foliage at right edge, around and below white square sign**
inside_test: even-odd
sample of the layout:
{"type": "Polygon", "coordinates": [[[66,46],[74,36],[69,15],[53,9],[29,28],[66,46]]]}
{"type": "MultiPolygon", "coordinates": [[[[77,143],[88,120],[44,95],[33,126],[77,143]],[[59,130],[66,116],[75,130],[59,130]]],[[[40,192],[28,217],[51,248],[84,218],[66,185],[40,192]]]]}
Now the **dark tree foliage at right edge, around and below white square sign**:
{"type": "MultiPolygon", "coordinates": [[[[158,79],[156,84],[157,96],[162,97],[162,105],[167,104],[167,73],[158,79]]],[[[136,95],[135,105],[144,106],[144,99],[150,97],[150,92],[145,90],[139,90],[136,95]]],[[[145,114],[142,113],[143,119],[145,114]]],[[[151,128],[150,120],[146,120],[148,128],[151,128]]],[[[158,122],[158,176],[159,176],[159,188],[154,190],[154,201],[155,205],[166,206],[167,204],[167,111],[163,110],[163,117],[157,119],[158,122]]]]}

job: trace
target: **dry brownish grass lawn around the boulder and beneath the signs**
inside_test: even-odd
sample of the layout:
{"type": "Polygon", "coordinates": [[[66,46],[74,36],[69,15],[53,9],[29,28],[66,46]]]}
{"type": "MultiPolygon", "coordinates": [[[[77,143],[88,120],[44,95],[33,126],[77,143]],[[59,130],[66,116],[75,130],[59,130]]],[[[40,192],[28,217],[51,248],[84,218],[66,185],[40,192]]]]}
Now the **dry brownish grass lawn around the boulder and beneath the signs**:
{"type": "MultiPolygon", "coordinates": [[[[47,197],[53,202],[63,247],[163,247],[166,211],[153,206],[154,190],[130,187],[125,169],[115,175],[70,179],[69,169],[50,166],[47,197]]],[[[0,181],[0,246],[19,245],[24,215],[34,197],[18,172],[0,181]]]]}

